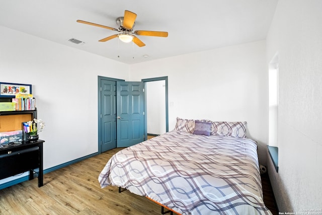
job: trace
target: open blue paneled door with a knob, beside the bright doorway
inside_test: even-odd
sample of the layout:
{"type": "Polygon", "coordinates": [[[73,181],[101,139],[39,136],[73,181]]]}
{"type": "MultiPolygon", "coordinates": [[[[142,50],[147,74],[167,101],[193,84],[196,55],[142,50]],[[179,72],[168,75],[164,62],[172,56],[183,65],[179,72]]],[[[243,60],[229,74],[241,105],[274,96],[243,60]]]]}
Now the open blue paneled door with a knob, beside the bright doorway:
{"type": "Polygon", "coordinates": [[[144,141],[143,82],[116,83],[117,147],[144,141]]]}

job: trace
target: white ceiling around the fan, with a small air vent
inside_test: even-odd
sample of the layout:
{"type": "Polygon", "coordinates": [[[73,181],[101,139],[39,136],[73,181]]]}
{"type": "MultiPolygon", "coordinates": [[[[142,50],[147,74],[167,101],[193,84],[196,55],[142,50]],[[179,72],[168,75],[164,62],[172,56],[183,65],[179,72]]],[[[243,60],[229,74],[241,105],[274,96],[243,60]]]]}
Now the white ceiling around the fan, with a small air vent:
{"type": "Polygon", "coordinates": [[[0,0],[0,25],[132,64],[263,40],[277,1],[0,0]],[[117,32],[76,22],[117,28],[115,20],[125,10],[137,14],[134,30],[167,31],[169,36],[137,36],[144,47],[118,38],[99,42],[117,32]],[[71,43],[70,38],[84,43],[71,43]]]}

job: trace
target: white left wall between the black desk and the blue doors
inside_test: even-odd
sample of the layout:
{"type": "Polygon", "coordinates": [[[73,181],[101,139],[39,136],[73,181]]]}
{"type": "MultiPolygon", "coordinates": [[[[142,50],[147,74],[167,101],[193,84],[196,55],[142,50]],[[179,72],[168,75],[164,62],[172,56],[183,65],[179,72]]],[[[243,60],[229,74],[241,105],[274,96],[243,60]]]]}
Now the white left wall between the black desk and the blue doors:
{"type": "Polygon", "coordinates": [[[128,79],[128,65],[2,26],[0,35],[0,82],[31,84],[46,123],[44,169],[98,152],[98,76],[128,79]]]}

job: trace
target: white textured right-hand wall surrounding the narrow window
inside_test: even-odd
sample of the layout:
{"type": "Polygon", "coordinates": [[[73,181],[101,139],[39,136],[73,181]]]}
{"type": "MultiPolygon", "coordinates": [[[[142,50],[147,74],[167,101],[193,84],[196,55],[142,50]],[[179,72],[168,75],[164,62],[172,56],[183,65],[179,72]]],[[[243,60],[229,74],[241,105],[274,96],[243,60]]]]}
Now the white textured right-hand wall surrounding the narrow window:
{"type": "Polygon", "coordinates": [[[267,36],[279,56],[279,171],[269,175],[281,212],[322,205],[322,1],[280,0],[267,36]]]}

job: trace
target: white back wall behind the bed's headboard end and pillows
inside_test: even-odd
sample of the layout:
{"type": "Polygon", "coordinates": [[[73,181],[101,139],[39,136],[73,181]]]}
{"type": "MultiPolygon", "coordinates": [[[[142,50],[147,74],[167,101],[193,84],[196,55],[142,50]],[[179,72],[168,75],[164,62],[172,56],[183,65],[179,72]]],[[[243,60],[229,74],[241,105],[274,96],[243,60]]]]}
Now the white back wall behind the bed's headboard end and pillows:
{"type": "Polygon", "coordinates": [[[247,121],[266,163],[268,77],[265,41],[130,65],[131,81],[168,76],[169,130],[176,117],[247,121]]]}

